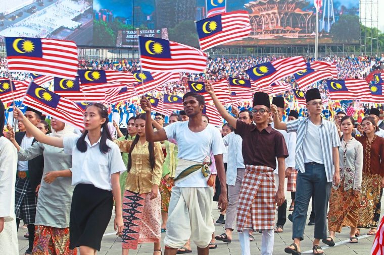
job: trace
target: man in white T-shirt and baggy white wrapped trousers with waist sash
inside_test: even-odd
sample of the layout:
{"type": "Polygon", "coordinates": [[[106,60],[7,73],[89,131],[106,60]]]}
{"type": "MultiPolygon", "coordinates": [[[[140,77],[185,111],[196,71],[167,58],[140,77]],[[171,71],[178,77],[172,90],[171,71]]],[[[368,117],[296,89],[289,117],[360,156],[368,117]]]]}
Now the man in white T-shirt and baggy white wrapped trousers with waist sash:
{"type": "Polygon", "coordinates": [[[178,145],[178,163],[175,170],[175,186],[169,202],[167,232],[164,238],[165,254],[176,254],[189,237],[198,246],[198,254],[208,254],[209,243],[215,226],[212,221],[213,182],[211,182],[209,155],[214,155],[221,194],[219,209],[227,207],[227,187],[223,163],[223,140],[215,126],[202,119],[204,97],[188,92],[182,99],[188,121],[176,121],[154,132],[151,126],[151,103],[145,97],[140,100],[146,111],[147,141],[174,139],[178,145]]]}

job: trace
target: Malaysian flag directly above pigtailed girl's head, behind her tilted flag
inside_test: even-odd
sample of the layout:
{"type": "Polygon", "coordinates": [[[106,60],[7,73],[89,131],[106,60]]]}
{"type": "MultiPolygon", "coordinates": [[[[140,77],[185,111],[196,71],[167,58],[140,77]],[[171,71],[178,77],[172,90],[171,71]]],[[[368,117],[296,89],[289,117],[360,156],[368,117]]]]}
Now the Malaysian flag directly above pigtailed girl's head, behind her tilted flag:
{"type": "Polygon", "coordinates": [[[74,80],[54,78],[54,92],[59,96],[65,97],[74,102],[92,102],[92,103],[104,103],[105,93],[104,92],[90,92],[83,93],[80,90],[79,77],[76,76],[74,80]]]}

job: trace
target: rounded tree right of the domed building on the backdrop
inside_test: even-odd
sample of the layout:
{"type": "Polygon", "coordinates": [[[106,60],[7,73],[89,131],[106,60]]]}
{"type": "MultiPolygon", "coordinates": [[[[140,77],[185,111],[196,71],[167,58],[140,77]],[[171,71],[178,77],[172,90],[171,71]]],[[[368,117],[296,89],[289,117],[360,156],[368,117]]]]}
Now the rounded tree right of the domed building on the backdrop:
{"type": "Polygon", "coordinates": [[[354,42],[359,40],[360,23],[355,15],[341,15],[338,22],[330,29],[330,34],[337,42],[354,42]]]}

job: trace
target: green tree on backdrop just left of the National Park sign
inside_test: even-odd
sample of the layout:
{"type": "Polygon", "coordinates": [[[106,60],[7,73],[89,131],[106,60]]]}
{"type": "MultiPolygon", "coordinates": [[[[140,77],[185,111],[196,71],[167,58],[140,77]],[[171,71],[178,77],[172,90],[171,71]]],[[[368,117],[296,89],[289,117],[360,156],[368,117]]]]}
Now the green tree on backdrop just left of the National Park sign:
{"type": "Polygon", "coordinates": [[[116,46],[116,33],[102,20],[93,20],[93,44],[116,46]]]}

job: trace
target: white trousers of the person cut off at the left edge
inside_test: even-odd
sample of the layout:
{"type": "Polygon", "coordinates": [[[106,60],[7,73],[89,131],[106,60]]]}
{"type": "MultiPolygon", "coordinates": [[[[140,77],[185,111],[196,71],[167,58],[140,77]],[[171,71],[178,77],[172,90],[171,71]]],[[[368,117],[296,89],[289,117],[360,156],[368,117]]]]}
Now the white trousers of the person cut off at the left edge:
{"type": "Polygon", "coordinates": [[[4,229],[0,233],[0,253],[7,255],[19,254],[19,241],[17,240],[16,220],[7,217],[4,229]],[[8,221],[7,221],[8,220],[8,221]]]}

